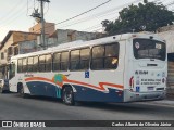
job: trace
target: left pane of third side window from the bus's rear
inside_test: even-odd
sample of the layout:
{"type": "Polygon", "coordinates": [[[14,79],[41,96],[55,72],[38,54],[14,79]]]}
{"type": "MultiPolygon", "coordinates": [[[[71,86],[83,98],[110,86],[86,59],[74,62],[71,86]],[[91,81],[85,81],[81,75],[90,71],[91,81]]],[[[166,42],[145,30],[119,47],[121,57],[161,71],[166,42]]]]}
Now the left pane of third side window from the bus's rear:
{"type": "Polygon", "coordinates": [[[52,70],[60,70],[60,60],[61,60],[61,53],[54,53],[53,54],[53,69],[52,70]]]}

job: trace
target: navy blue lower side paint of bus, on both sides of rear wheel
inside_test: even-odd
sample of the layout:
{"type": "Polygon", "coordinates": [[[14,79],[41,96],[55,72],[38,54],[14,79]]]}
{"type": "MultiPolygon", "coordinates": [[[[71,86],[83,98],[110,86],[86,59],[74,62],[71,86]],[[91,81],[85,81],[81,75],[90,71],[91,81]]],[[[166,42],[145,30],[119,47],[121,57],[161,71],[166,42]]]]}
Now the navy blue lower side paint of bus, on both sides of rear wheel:
{"type": "MultiPolygon", "coordinates": [[[[61,89],[57,86],[42,81],[27,82],[32,95],[46,95],[61,98],[61,89]],[[46,88],[47,86],[47,88],[46,88]]],[[[77,92],[74,92],[75,101],[95,101],[95,102],[123,102],[123,94],[119,96],[116,89],[110,89],[104,93],[90,88],[73,84],[77,92]]]]}

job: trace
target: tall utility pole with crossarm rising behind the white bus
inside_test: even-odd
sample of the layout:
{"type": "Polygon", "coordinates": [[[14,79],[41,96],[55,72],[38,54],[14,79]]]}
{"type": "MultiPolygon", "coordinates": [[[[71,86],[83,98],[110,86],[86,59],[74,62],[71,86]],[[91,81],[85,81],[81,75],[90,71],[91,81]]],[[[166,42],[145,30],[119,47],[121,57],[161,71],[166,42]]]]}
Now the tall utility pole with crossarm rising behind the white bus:
{"type": "Polygon", "coordinates": [[[40,13],[38,13],[38,9],[35,10],[35,12],[32,14],[33,17],[35,18],[40,18],[40,23],[41,23],[41,44],[44,50],[47,49],[47,44],[46,44],[46,37],[45,37],[45,13],[44,13],[44,3],[45,2],[50,2],[49,0],[38,0],[40,1],[40,13]]]}

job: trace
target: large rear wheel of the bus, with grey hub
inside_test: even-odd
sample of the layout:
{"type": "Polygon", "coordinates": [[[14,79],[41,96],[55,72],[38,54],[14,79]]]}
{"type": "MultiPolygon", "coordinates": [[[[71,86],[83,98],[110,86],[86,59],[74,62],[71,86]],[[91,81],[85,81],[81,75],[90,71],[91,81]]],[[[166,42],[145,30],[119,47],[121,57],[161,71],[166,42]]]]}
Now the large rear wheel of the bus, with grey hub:
{"type": "Polygon", "coordinates": [[[63,102],[64,104],[66,105],[74,105],[75,104],[75,101],[74,101],[74,92],[73,92],[73,89],[69,86],[66,86],[64,89],[63,89],[63,95],[62,95],[62,99],[63,99],[63,102]]]}

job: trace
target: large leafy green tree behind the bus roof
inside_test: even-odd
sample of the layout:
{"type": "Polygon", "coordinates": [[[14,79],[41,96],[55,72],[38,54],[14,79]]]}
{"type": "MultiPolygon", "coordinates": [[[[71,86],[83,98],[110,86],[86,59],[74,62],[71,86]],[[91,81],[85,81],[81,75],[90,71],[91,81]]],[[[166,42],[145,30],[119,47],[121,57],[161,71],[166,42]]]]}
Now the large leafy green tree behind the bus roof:
{"type": "Polygon", "coordinates": [[[156,4],[144,0],[138,5],[129,5],[119,12],[120,16],[114,22],[102,21],[102,26],[109,35],[130,31],[156,31],[159,27],[172,25],[174,14],[163,4],[156,4]]]}

